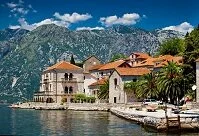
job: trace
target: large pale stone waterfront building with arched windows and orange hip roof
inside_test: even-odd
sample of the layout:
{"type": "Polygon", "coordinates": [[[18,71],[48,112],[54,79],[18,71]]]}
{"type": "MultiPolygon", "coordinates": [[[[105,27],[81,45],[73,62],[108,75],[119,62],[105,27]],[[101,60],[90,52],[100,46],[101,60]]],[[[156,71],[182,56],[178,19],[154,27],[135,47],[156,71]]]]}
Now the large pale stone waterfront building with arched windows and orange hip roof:
{"type": "Polygon", "coordinates": [[[43,71],[40,89],[34,94],[34,101],[69,103],[76,93],[84,93],[83,69],[61,61],[43,71]]]}

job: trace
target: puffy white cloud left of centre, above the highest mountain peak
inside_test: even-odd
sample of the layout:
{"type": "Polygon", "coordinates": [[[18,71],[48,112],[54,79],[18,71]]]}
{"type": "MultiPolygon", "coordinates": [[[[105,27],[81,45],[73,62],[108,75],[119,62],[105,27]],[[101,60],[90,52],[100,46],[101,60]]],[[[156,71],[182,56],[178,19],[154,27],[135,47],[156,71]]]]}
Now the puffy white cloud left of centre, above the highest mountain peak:
{"type": "Polygon", "coordinates": [[[64,14],[64,15],[60,15],[58,12],[56,12],[54,14],[54,16],[57,18],[57,19],[60,19],[62,21],[65,21],[65,22],[69,22],[69,23],[76,23],[76,22],[79,22],[79,21],[86,21],[90,18],[92,18],[92,16],[90,14],[78,14],[76,12],[72,13],[71,15],[70,14],[64,14]]]}

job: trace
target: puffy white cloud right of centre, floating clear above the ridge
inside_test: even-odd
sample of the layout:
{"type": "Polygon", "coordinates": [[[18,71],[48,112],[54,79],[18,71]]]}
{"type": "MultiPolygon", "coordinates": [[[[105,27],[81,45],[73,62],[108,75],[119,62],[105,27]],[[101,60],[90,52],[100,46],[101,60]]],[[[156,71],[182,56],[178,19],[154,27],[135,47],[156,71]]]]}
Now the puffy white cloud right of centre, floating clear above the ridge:
{"type": "Polygon", "coordinates": [[[107,27],[116,24],[134,25],[139,21],[140,18],[141,18],[140,15],[137,13],[130,13],[130,14],[127,13],[124,14],[122,17],[117,17],[116,15],[101,17],[100,22],[107,27]]]}

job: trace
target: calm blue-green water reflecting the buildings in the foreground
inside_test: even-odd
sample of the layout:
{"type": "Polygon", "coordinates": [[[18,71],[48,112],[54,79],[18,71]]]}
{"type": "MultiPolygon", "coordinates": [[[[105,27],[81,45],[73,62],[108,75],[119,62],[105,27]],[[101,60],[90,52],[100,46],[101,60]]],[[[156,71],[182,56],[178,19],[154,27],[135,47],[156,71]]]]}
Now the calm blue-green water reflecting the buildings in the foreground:
{"type": "Polygon", "coordinates": [[[0,105],[0,135],[156,136],[109,112],[39,111],[0,105]]]}

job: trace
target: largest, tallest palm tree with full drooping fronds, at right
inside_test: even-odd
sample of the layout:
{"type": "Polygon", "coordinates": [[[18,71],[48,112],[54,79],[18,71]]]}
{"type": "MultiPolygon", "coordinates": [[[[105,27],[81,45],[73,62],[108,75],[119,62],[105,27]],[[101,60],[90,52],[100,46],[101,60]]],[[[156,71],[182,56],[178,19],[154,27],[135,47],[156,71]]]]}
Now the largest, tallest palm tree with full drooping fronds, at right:
{"type": "Polygon", "coordinates": [[[173,61],[169,61],[167,65],[159,73],[158,88],[166,99],[170,98],[172,104],[178,103],[184,95],[183,88],[183,70],[182,67],[173,61]]]}

